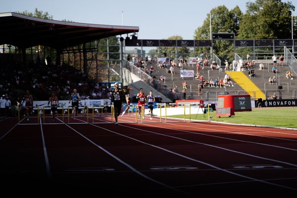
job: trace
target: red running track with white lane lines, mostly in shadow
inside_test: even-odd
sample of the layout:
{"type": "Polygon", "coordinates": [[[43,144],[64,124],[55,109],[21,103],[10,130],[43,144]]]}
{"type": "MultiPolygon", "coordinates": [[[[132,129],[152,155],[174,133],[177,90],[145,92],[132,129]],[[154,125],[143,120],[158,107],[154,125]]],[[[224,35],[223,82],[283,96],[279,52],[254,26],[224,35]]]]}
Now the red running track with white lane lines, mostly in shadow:
{"type": "Polygon", "coordinates": [[[132,197],[296,197],[297,131],[157,120],[129,123],[135,118],[126,116],[119,125],[1,121],[5,189],[132,197]]]}

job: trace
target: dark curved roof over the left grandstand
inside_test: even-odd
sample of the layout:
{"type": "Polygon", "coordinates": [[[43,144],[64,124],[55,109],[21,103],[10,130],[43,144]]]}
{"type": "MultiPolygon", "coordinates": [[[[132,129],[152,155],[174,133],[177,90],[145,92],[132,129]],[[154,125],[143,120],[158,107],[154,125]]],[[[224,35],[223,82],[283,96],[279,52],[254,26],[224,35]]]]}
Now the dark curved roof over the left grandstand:
{"type": "Polygon", "coordinates": [[[138,32],[139,27],[75,23],[0,13],[0,45],[65,48],[106,37],[138,32]]]}

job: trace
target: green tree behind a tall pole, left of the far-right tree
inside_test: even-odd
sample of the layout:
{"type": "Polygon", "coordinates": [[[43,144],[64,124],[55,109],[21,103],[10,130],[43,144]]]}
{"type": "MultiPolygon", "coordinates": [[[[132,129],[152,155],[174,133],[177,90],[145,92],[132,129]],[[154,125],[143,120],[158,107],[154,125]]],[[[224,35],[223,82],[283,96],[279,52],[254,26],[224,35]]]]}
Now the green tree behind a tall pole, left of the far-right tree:
{"type": "MultiPolygon", "coordinates": [[[[242,17],[242,11],[238,6],[232,10],[228,10],[225,5],[220,5],[211,9],[211,30],[212,32],[228,32],[235,33],[239,30],[239,24],[242,17]]],[[[209,14],[207,14],[201,27],[195,31],[195,40],[209,40],[210,39],[210,21],[209,14]]],[[[214,41],[213,53],[221,59],[231,60],[233,57],[233,42],[231,41],[214,41]]],[[[200,51],[207,51],[209,49],[202,48],[200,51]]],[[[197,50],[198,51],[198,50],[197,50]]]]}

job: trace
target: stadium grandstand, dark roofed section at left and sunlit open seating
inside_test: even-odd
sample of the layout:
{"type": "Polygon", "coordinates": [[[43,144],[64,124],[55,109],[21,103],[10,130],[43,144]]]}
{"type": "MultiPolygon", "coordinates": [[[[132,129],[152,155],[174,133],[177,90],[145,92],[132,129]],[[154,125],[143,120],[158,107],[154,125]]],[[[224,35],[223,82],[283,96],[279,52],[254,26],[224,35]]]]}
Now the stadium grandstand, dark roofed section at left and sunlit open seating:
{"type": "MultiPolygon", "coordinates": [[[[271,48],[265,53],[256,53],[261,42],[253,42],[250,59],[235,53],[233,60],[223,61],[209,52],[212,40],[138,40],[138,27],[55,21],[17,13],[1,13],[0,23],[0,94],[12,106],[21,102],[26,90],[35,101],[47,100],[51,92],[59,100],[68,100],[73,89],[81,99],[110,99],[114,82],[132,88],[134,103],[140,88],[146,94],[152,90],[155,105],[189,99],[216,103],[219,95],[241,94],[253,100],[271,99],[273,94],[278,99],[296,99],[297,59],[289,50],[295,49],[294,40],[288,45],[269,40],[269,46],[268,40],[261,41],[271,48]],[[159,50],[157,54],[130,53],[129,47],[159,50]],[[175,53],[160,50],[168,47],[175,48],[175,53]],[[182,47],[189,53],[177,53],[182,47]],[[200,48],[209,51],[200,52],[200,48]],[[276,73],[272,70],[274,54],[278,57],[276,73]],[[286,76],[289,71],[290,78],[286,76]]],[[[236,47],[241,48],[240,44],[236,47]]]]}

